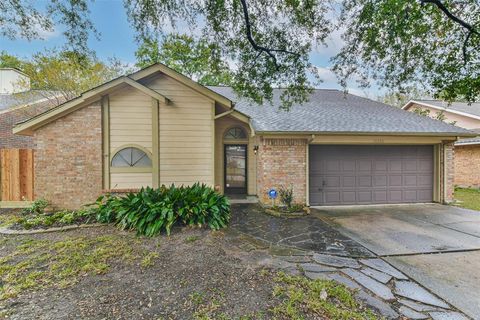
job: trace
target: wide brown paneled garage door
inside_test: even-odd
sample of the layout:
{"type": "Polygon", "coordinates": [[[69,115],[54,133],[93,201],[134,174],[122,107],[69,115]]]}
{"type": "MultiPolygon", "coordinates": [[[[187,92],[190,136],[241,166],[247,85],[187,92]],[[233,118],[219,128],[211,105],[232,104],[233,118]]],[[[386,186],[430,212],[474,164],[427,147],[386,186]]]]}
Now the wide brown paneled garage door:
{"type": "Polygon", "coordinates": [[[433,146],[311,145],[310,205],[433,200],[433,146]]]}

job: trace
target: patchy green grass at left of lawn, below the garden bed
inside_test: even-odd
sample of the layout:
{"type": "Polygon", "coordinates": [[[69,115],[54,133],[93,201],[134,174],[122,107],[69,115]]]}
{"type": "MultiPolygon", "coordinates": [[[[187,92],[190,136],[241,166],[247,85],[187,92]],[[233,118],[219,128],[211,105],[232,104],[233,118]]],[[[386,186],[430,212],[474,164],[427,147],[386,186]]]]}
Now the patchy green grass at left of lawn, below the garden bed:
{"type": "Polygon", "coordinates": [[[0,300],[26,290],[71,286],[84,276],[108,272],[113,262],[149,267],[158,257],[125,236],[9,241],[15,247],[0,258],[0,300]]]}

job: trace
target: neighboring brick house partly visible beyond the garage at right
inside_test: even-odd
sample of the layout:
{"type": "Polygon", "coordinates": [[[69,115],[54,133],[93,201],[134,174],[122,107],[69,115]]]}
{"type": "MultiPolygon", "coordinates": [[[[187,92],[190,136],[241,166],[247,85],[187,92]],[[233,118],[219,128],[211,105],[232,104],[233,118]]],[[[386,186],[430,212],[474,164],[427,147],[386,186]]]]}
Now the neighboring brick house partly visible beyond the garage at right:
{"type": "Polygon", "coordinates": [[[453,102],[448,104],[438,100],[411,100],[404,110],[429,110],[431,115],[442,113],[444,121],[479,133],[479,136],[460,139],[455,142],[455,185],[480,187],[480,103],[468,104],[453,102]]]}

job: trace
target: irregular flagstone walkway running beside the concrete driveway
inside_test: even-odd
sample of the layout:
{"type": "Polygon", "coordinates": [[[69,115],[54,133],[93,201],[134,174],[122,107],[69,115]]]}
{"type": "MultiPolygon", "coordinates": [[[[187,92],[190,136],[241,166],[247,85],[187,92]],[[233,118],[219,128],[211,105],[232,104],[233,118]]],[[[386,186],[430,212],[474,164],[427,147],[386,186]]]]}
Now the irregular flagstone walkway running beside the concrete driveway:
{"type": "Polygon", "coordinates": [[[325,222],[277,218],[258,205],[232,205],[243,249],[267,249],[262,264],[310,279],[334,280],[387,319],[463,320],[465,315],[325,222]]]}

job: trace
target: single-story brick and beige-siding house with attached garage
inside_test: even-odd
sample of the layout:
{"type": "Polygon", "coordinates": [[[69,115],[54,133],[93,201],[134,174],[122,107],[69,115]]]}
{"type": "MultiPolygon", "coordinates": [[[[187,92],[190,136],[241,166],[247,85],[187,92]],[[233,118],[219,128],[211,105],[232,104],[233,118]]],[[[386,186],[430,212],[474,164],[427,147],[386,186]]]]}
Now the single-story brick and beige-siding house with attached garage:
{"type": "Polygon", "coordinates": [[[338,90],[279,110],[155,64],[85,92],[14,133],[33,137],[35,197],[75,208],[104,192],[202,182],[270,203],[452,200],[453,143],[472,133],[338,90]]]}

